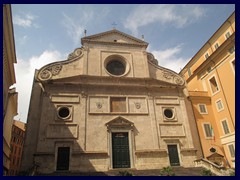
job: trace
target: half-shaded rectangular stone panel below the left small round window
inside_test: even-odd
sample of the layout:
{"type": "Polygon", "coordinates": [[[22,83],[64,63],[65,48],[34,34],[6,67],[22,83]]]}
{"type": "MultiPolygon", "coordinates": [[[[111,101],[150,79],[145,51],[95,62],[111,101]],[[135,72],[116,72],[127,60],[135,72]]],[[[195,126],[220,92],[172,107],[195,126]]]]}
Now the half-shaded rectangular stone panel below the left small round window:
{"type": "Polygon", "coordinates": [[[46,131],[47,138],[76,139],[78,138],[77,124],[49,124],[46,131]]]}

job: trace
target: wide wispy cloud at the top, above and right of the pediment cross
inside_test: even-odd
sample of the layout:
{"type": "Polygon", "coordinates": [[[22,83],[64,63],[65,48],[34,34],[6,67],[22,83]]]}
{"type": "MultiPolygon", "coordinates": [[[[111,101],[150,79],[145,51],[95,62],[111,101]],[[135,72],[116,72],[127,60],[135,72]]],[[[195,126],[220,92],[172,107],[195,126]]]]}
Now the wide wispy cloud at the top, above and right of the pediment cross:
{"type": "Polygon", "coordinates": [[[138,28],[151,23],[169,24],[182,28],[204,16],[198,5],[145,4],[136,7],[124,22],[124,27],[138,35],[138,28]]]}

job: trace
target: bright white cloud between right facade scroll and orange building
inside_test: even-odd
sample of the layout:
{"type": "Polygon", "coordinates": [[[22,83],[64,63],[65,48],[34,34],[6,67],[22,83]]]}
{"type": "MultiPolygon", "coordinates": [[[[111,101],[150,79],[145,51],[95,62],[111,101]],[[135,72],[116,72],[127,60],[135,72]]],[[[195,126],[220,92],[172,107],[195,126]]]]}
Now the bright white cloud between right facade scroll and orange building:
{"type": "Polygon", "coordinates": [[[158,65],[171,69],[177,73],[180,72],[181,68],[190,60],[190,58],[179,57],[178,54],[182,50],[182,44],[173,48],[165,50],[153,50],[151,51],[155,59],[158,60],[158,65]]]}

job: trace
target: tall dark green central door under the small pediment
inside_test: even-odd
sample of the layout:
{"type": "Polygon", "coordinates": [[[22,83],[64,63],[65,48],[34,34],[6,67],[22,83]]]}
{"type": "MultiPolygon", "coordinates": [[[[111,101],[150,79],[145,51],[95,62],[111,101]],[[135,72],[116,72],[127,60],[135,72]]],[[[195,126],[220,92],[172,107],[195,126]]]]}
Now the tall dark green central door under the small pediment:
{"type": "Polygon", "coordinates": [[[128,133],[112,133],[113,168],[130,168],[128,133]]]}

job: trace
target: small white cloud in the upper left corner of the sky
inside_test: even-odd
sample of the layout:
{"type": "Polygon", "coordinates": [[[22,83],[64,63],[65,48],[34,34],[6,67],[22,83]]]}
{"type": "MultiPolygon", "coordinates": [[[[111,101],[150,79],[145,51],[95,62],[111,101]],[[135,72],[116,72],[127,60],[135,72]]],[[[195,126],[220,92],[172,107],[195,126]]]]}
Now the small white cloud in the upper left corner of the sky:
{"type": "Polygon", "coordinates": [[[29,28],[29,27],[38,28],[39,25],[33,22],[35,19],[36,19],[36,16],[32,14],[25,14],[23,16],[15,15],[13,16],[13,24],[24,27],[24,28],[29,28]]]}

